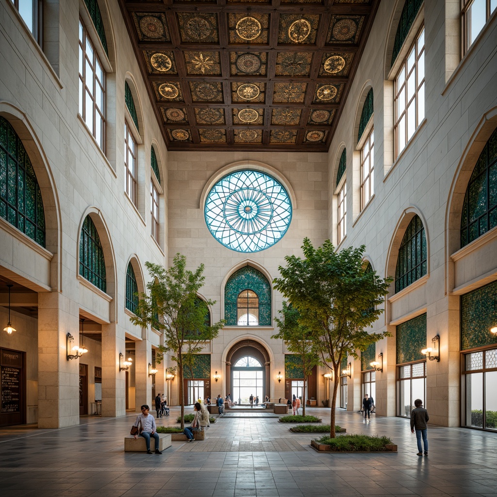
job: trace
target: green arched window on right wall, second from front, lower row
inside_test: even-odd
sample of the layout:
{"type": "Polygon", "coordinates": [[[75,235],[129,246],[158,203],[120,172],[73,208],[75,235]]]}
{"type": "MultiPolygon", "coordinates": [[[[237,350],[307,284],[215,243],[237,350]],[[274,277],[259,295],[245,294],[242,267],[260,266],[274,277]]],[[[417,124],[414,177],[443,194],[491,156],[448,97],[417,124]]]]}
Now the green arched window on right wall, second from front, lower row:
{"type": "Polygon", "coordinates": [[[399,248],[395,269],[395,292],[400,292],[426,274],[426,236],[419,216],[409,223],[399,248]]]}

